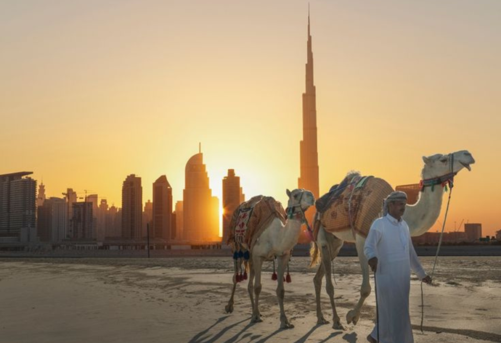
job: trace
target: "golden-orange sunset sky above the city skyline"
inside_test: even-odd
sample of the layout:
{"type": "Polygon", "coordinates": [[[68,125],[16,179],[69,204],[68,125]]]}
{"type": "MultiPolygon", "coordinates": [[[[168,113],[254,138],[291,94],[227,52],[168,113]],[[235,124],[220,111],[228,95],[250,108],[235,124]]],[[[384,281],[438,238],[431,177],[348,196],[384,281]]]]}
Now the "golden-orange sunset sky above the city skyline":
{"type": "MultiPolygon", "coordinates": [[[[422,155],[467,149],[476,163],[456,177],[447,230],[501,229],[501,1],[310,8],[321,192],[350,169],[416,183],[422,155]]],[[[286,202],[307,15],[290,0],[0,1],[0,173],[120,207],[128,174],[143,201],[165,174],[175,202],[201,142],[219,199],[233,168],[246,198],[286,202]]]]}

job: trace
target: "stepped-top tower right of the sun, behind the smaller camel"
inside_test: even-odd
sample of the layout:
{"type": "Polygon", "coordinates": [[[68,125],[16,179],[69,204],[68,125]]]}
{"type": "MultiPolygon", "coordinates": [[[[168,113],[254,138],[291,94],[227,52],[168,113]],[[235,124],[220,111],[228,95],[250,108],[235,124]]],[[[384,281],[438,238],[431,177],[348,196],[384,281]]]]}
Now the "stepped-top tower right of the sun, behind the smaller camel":
{"type": "Polygon", "coordinates": [[[222,241],[226,242],[229,234],[229,224],[233,211],[245,201],[240,187],[240,177],[234,169],[228,169],[228,175],[222,179],[222,241]]]}

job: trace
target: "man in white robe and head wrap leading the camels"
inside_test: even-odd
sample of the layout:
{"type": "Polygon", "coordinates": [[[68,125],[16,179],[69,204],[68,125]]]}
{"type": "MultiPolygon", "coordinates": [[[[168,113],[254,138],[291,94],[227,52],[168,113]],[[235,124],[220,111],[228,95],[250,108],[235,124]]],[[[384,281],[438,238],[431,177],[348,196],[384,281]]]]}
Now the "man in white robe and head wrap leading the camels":
{"type": "Polygon", "coordinates": [[[378,318],[367,336],[371,343],[413,343],[409,315],[410,271],[431,283],[419,263],[410,239],[409,226],[402,219],[407,195],[392,192],[385,199],[383,217],[376,219],[365,240],[364,253],[375,272],[378,318]]]}

